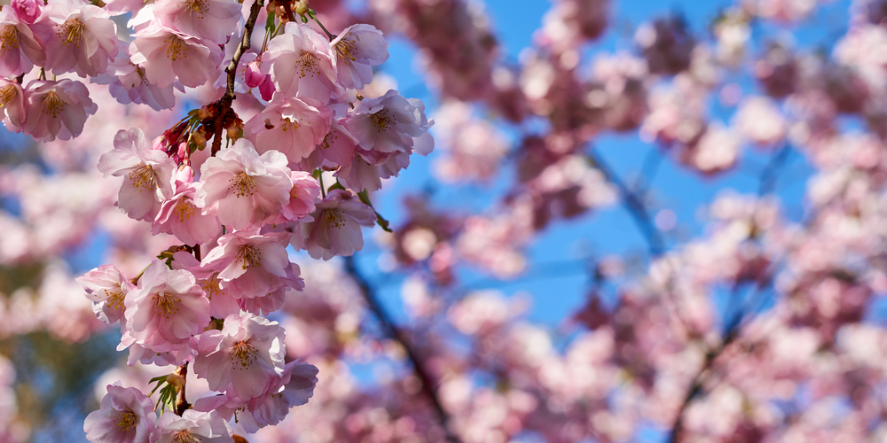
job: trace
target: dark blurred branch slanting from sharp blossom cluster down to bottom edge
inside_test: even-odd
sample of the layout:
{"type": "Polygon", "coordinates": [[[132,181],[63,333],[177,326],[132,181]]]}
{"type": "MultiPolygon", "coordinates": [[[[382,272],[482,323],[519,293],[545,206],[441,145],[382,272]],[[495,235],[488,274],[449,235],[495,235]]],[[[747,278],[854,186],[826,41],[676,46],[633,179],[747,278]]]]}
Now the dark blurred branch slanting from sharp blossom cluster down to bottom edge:
{"type": "Polygon", "coordinates": [[[412,363],[412,370],[422,384],[422,392],[425,392],[428,400],[431,400],[432,407],[435,408],[437,415],[440,416],[443,431],[446,432],[446,439],[453,443],[459,443],[459,437],[453,434],[450,430],[450,415],[443,409],[443,404],[437,397],[437,384],[428,371],[425,361],[422,360],[420,355],[413,348],[410,337],[404,332],[404,330],[397,327],[385,311],[385,308],[381,306],[379,300],[376,298],[373,287],[370,286],[363,274],[357,269],[357,265],[354,262],[354,256],[343,257],[343,259],[345,261],[345,271],[348,272],[349,276],[351,276],[355,283],[357,283],[357,286],[360,287],[360,291],[364,294],[367,306],[370,307],[370,310],[373,311],[373,315],[375,315],[376,319],[381,323],[382,329],[385,330],[385,333],[387,333],[389,337],[394,338],[400,346],[404,346],[406,356],[412,363]]]}

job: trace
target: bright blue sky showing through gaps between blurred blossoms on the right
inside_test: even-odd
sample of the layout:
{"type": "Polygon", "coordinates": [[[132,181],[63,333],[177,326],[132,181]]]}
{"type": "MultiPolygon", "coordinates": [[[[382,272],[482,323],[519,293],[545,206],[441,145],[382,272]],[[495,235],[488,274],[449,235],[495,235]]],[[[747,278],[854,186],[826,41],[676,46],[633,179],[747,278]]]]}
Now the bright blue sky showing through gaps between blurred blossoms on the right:
{"type": "MultiPolygon", "coordinates": [[[[551,6],[547,1],[506,1],[495,0],[484,2],[485,11],[491,18],[491,25],[498,35],[499,42],[505,53],[504,57],[514,61],[521,51],[532,43],[532,33],[541,24],[542,17],[551,6]]],[[[695,35],[709,38],[707,27],[731,2],[726,0],[696,1],[679,0],[662,2],[656,0],[633,0],[615,2],[611,11],[610,26],[605,35],[596,42],[590,43],[583,51],[583,63],[590,63],[596,54],[631,51],[634,29],[644,21],[667,16],[671,13],[683,14],[695,35]]],[[[791,38],[799,48],[815,49],[830,47],[836,35],[843,34],[848,22],[849,0],[840,0],[827,4],[810,19],[795,27],[778,27],[774,25],[756,25],[753,27],[752,39],[756,43],[763,42],[763,36],[779,35],[791,38]],[[792,35],[792,36],[789,36],[792,35]]],[[[420,97],[429,107],[430,116],[434,116],[435,100],[425,88],[419,68],[412,61],[415,50],[411,43],[403,39],[391,38],[391,58],[383,67],[383,71],[396,77],[399,88],[408,97],[420,97]]],[[[727,79],[742,87],[744,94],[756,91],[754,82],[747,76],[735,76],[727,79]]],[[[716,91],[717,92],[717,91],[716,91]]],[[[713,120],[728,121],[732,111],[723,109],[714,103],[712,98],[713,120]]],[[[626,180],[631,180],[640,171],[646,155],[655,146],[640,141],[636,134],[605,133],[596,141],[600,154],[626,180]]],[[[404,192],[417,192],[428,177],[428,164],[434,161],[436,153],[429,159],[415,159],[412,166],[397,180],[396,189],[384,191],[377,196],[377,206],[392,221],[403,217],[400,200],[404,192]]],[[[769,159],[769,154],[755,152],[746,148],[740,165],[730,173],[716,177],[701,177],[687,169],[676,165],[672,159],[664,159],[660,163],[657,174],[650,187],[651,197],[655,206],[670,209],[677,215],[677,229],[668,233],[669,245],[676,245],[687,237],[698,237],[703,233],[704,214],[700,208],[710,203],[718,193],[724,190],[736,190],[739,193],[757,191],[758,175],[769,159]],[[674,238],[680,237],[681,240],[674,238]]],[[[803,214],[803,195],[806,178],[811,168],[797,152],[792,153],[776,191],[788,206],[789,216],[799,218],[803,214]]],[[[490,186],[465,185],[454,190],[440,192],[435,201],[441,207],[470,207],[473,211],[483,211],[491,205],[492,197],[505,188],[508,175],[500,175],[498,183],[490,186]]],[[[655,211],[653,212],[655,214],[655,211]]],[[[396,223],[395,223],[396,225],[396,223]]],[[[621,206],[586,214],[570,221],[553,223],[538,239],[530,245],[528,252],[532,263],[528,272],[513,281],[491,282],[483,279],[482,274],[464,272],[467,281],[483,280],[484,287],[492,287],[504,291],[506,295],[527,291],[532,294],[535,305],[528,317],[531,321],[546,324],[552,328],[566,316],[580,307],[586,296],[588,278],[585,276],[580,261],[560,267],[560,272],[551,274],[546,263],[559,263],[563,260],[580,259],[588,255],[597,257],[608,253],[628,253],[643,256],[646,244],[640,231],[635,227],[630,215],[621,206]]],[[[361,264],[367,273],[381,272],[375,267],[374,261],[378,253],[367,251],[362,254],[361,264]]],[[[405,320],[399,297],[399,288],[387,286],[383,297],[389,310],[395,316],[405,320]]]]}

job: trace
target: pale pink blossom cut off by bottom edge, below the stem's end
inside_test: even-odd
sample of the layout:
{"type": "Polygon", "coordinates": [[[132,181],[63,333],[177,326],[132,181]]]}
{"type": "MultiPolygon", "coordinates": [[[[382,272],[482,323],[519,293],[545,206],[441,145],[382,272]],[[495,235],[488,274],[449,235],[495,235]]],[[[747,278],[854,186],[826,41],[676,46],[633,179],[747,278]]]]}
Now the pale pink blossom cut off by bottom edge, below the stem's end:
{"type": "Polygon", "coordinates": [[[170,411],[157,420],[155,443],[232,443],[232,429],[216,412],[187,409],[182,416],[170,411]]]}

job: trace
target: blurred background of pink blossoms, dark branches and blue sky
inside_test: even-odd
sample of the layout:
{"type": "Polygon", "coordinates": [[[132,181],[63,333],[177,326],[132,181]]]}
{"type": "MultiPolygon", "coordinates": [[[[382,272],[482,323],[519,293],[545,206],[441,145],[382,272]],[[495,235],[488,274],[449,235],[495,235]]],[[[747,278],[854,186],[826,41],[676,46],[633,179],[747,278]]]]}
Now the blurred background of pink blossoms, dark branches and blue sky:
{"type": "MultiPolygon", "coordinates": [[[[887,441],[887,1],[310,6],[384,33],[360,94],[421,98],[436,150],[373,195],[392,232],[348,258],[290,249],[305,287],[271,319],[318,384],[239,435],[887,441]]],[[[82,136],[0,129],[0,441],[84,442],[106,385],[169,372],[128,367],[74,279],[177,243],[96,165],[118,130],[151,140],[221,87],[155,111],[160,92],[90,83],[82,136]]]]}

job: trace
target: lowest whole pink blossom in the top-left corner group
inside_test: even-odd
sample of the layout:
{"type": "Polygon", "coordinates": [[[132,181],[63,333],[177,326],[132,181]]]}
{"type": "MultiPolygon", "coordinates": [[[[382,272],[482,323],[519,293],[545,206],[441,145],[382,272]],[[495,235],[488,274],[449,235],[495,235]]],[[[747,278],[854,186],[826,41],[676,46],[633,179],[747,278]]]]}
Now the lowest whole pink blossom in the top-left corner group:
{"type": "Polygon", "coordinates": [[[27,83],[25,97],[24,131],[40,142],[80,136],[86,117],[98,109],[83,83],[67,79],[59,82],[32,80],[27,83]]]}

